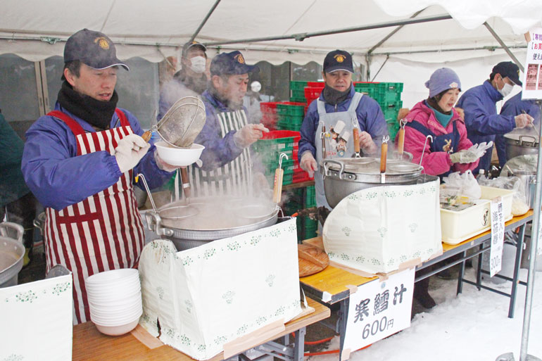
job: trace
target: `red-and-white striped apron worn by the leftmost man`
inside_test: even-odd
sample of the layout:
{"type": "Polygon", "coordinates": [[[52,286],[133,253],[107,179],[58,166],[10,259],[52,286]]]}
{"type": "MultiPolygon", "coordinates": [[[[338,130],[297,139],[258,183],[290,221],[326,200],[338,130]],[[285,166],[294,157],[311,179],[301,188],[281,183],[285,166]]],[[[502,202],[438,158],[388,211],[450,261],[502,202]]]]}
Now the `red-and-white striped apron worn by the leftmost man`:
{"type": "MultiPolygon", "coordinates": [[[[77,156],[96,151],[113,154],[118,141],[132,128],[124,113],[116,109],[120,127],[85,132],[65,113],[48,115],[63,120],[75,134],[77,156]]],[[[92,177],[92,170],[89,177],[92,177]]],[[[45,247],[47,272],[64,265],[73,272],[73,305],[77,323],[90,320],[84,279],[92,274],[137,264],[144,245],[144,230],[132,186],[132,170],[118,182],[89,198],[57,211],[46,208],[45,247]]],[[[74,319],[74,323],[75,323],[74,319]]]]}

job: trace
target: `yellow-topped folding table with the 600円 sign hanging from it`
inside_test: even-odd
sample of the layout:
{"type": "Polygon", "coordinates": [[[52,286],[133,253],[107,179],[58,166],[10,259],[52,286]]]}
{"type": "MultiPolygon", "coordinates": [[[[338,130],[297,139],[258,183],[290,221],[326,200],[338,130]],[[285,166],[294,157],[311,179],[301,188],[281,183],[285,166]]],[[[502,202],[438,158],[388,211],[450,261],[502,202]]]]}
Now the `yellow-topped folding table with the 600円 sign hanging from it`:
{"type": "MultiPolygon", "coordinates": [[[[510,318],[514,317],[514,305],[515,305],[517,284],[526,285],[525,282],[519,281],[518,279],[519,265],[521,263],[521,258],[522,258],[525,224],[531,221],[532,218],[533,218],[533,211],[529,210],[529,212],[526,213],[525,215],[522,215],[519,217],[513,217],[512,220],[505,222],[505,231],[511,231],[519,227],[518,240],[514,244],[514,246],[516,247],[514,277],[512,278],[500,277],[503,279],[507,279],[508,281],[512,281],[512,292],[510,294],[503,293],[502,291],[499,291],[496,289],[491,289],[491,287],[484,286],[481,284],[481,272],[483,272],[481,270],[481,254],[486,251],[489,251],[490,249],[490,246],[484,247],[484,243],[486,241],[491,240],[491,230],[481,233],[477,236],[474,236],[470,239],[467,239],[466,241],[463,241],[453,246],[443,243],[442,255],[439,255],[438,257],[433,258],[431,260],[427,260],[426,262],[423,262],[421,265],[418,265],[416,267],[417,271],[427,270],[427,272],[420,272],[422,274],[417,276],[415,281],[420,281],[420,279],[427,278],[431,276],[432,274],[441,272],[441,270],[446,270],[446,268],[452,267],[453,265],[460,264],[461,265],[460,273],[458,275],[458,293],[461,293],[462,283],[465,282],[469,284],[474,284],[479,289],[487,289],[489,291],[499,293],[503,296],[508,296],[510,297],[508,317],[510,318]],[[472,248],[477,248],[477,247],[479,249],[476,252],[467,255],[467,251],[469,251],[472,248]],[[461,257],[458,260],[454,260],[453,262],[450,262],[446,265],[442,265],[441,267],[438,267],[438,268],[434,268],[432,270],[429,269],[429,266],[435,265],[437,262],[440,262],[441,260],[446,260],[458,254],[461,255],[461,257]],[[469,281],[465,279],[465,261],[476,255],[479,255],[477,281],[473,282],[473,281],[469,281]]],[[[308,243],[313,246],[320,246],[323,248],[321,237],[306,239],[305,241],[303,241],[303,243],[308,243]]],[[[363,284],[366,284],[367,282],[374,281],[375,279],[377,279],[376,276],[375,277],[361,277],[358,274],[353,274],[352,272],[348,272],[347,270],[343,270],[341,268],[332,267],[332,266],[327,266],[324,270],[322,270],[322,272],[318,272],[317,274],[313,274],[308,277],[302,277],[300,279],[303,290],[305,291],[305,293],[307,293],[311,297],[315,298],[316,300],[319,300],[320,302],[326,305],[333,305],[334,303],[339,303],[340,305],[339,320],[337,321],[337,324],[335,325],[327,324],[327,326],[334,329],[341,336],[341,350],[344,344],[344,334],[346,331],[346,319],[348,317],[348,303],[349,303],[348,300],[350,298],[350,291],[348,289],[348,286],[349,285],[361,286],[363,284]]]]}

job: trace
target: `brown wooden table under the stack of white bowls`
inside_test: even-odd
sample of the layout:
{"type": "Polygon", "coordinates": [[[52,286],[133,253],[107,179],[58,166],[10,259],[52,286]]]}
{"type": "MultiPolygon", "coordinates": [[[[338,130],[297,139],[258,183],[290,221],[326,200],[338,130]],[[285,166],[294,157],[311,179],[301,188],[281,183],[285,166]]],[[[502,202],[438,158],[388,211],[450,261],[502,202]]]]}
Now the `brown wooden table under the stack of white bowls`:
{"type": "MultiPolygon", "coordinates": [[[[272,336],[265,343],[287,336],[292,332],[296,333],[293,348],[291,351],[294,360],[303,360],[303,350],[305,341],[305,327],[322,319],[329,317],[329,308],[307,298],[308,305],[315,309],[309,315],[286,323],[286,329],[280,334],[272,336]]],[[[254,348],[259,345],[248,347],[254,348]]],[[[270,348],[277,348],[270,344],[270,348]]],[[[147,348],[132,334],[128,333],[122,336],[106,336],[101,334],[92,322],[77,324],[73,327],[73,361],[96,360],[96,361],[139,361],[139,360],[160,360],[160,361],[192,361],[193,359],[175,348],[167,345],[158,348],[147,348]]],[[[222,353],[212,357],[211,361],[223,360],[222,353]]]]}

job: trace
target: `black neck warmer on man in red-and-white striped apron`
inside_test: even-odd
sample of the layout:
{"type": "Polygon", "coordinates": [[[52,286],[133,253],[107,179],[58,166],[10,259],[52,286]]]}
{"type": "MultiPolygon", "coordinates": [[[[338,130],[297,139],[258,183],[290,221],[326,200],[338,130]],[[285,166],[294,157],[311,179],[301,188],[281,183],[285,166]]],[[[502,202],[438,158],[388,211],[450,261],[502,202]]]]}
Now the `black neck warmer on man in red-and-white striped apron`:
{"type": "Polygon", "coordinates": [[[113,91],[110,101],[99,101],[73,90],[70,83],[64,81],[58,91],[58,103],[73,115],[99,129],[108,129],[117,107],[118,94],[113,91]]]}

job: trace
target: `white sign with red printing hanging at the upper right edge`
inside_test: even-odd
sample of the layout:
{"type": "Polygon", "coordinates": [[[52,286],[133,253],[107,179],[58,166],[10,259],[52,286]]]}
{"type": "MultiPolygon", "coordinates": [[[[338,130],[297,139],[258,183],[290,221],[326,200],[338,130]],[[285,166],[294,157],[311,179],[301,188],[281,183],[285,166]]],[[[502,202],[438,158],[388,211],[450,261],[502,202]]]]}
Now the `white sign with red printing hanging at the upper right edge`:
{"type": "Polygon", "coordinates": [[[542,99],[542,28],[531,30],[529,38],[522,99],[542,99]]]}

